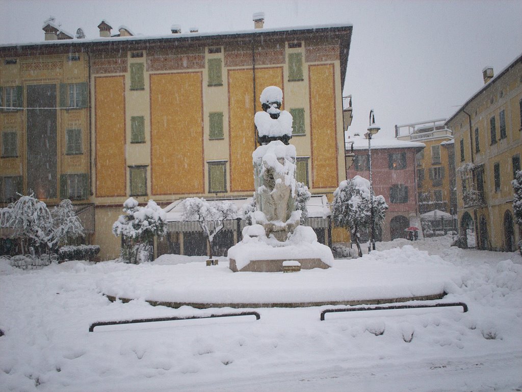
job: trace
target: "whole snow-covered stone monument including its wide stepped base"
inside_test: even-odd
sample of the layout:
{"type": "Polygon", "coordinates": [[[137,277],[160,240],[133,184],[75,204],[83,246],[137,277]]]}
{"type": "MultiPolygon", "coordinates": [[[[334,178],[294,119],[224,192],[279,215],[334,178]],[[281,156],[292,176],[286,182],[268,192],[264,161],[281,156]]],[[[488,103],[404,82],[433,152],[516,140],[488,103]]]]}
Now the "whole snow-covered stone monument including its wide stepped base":
{"type": "Polygon", "coordinates": [[[292,115],[281,110],[283,93],[269,86],[261,94],[263,111],[254,116],[259,147],[252,154],[256,209],[243,240],[229,249],[232,271],[283,271],[283,262],[297,261],[302,269],[328,268],[334,257],[317,242],[311,227],[300,225],[295,210],[295,147],[292,115]]]}

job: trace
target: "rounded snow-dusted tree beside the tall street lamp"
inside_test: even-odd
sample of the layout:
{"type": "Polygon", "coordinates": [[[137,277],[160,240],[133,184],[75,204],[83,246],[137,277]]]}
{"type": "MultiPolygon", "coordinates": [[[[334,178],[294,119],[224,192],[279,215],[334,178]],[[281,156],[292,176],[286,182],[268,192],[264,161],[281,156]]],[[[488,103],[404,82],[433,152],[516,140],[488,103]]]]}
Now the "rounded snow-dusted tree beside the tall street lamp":
{"type": "MultiPolygon", "coordinates": [[[[373,218],[376,227],[384,221],[387,209],[388,204],[386,204],[384,197],[374,194],[373,218]]],[[[334,225],[351,230],[352,241],[355,241],[355,245],[357,245],[359,257],[362,256],[359,232],[361,229],[371,228],[371,214],[370,181],[361,176],[341,181],[334,192],[332,204],[334,225]]]]}

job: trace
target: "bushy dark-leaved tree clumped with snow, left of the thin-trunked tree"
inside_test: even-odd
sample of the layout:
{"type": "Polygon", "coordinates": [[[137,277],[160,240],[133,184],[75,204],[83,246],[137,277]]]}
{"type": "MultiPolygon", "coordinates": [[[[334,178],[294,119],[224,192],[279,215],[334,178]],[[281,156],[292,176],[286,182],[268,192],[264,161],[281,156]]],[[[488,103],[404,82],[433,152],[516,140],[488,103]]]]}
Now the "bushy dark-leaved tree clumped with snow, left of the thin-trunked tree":
{"type": "Polygon", "coordinates": [[[165,212],[153,200],[140,207],[134,198],[123,203],[123,211],[125,214],[112,225],[113,234],[123,239],[121,258],[133,264],[150,261],[151,242],[165,234],[165,212]]]}

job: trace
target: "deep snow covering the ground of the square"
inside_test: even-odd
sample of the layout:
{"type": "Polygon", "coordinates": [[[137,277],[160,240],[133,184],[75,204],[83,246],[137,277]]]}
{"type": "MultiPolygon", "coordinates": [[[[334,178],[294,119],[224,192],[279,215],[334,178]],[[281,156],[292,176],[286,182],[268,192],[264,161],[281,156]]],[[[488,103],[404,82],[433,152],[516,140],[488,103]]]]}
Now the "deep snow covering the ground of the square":
{"type": "Polygon", "coordinates": [[[0,390],[521,390],[522,259],[517,253],[449,248],[450,242],[451,237],[377,243],[377,251],[361,259],[294,274],[232,273],[222,266],[224,258],[206,267],[204,257],[184,256],[141,266],[75,261],[33,271],[3,263],[0,390]],[[241,296],[248,294],[250,280],[262,296],[261,281],[266,293],[300,299],[310,295],[303,283],[310,281],[313,290],[324,284],[321,295],[337,296],[337,273],[346,276],[347,292],[358,296],[382,279],[383,269],[390,273],[382,292],[437,282],[449,293],[443,301],[465,302],[469,312],[451,307],[328,313],[321,321],[327,306],[257,308],[249,310],[259,312],[259,320],[184,320],[88,332],[94,321],[237,311],[144,301],[169,287],[175,293],[176,287],[221,285],[231,296],[242,290],[236,293],[241,296]],[[109,302],[100,290],[110,282],[139,299],[109,302]],[[360,291],[354,292],[356,283],[360,291]]]}

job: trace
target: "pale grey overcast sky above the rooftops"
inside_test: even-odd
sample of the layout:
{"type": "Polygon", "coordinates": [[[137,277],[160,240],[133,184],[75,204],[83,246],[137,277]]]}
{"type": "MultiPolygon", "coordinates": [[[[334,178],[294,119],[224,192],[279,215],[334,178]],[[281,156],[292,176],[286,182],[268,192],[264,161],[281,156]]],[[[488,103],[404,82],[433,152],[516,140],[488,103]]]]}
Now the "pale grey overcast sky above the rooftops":
{"type": "Polygon", "coordinates": [[[374,109],[380,136],[395,124],[451,116],[483,85],[485,66],[496,75],[522,53],[522,0],[0,0],[0,9],[0,44],[42,41],[50,15],[87,38],[99,37],[102,19],[113,33],[125,25],[144,35],[168,34],[173,24],[252,29],[258,11],[266,28],[350,23],[350,130],[365,131],[374,109]]]}

